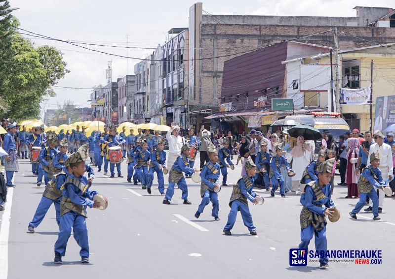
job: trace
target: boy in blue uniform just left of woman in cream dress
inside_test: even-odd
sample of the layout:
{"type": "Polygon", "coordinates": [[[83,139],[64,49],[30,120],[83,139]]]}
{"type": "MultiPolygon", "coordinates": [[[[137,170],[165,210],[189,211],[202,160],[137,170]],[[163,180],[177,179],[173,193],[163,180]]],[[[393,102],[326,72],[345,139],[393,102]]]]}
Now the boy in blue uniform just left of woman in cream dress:
{"type": "Polygon", "coordinates": [[[272,157],[272,161],[270,163],[271,171],[273,172],[272,176],[272,190],[270,191],[270,195],[272,197],[275,196],[276,189],[278,186],[280,187],[280,195],[281,197],[285,197],[285,182],[281,174],[280,167],[284,166],[287,171],[291,169],[287,160],[282,155],[282,147],[281,145],[276,145],[276,155],[272,157]]]}

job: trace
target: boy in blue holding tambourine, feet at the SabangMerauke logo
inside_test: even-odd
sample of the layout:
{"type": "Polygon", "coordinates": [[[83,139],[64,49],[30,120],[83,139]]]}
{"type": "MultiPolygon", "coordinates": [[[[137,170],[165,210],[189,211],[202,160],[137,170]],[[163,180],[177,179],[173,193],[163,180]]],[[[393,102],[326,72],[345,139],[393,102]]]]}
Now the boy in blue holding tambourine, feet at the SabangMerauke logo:
{"type": "MultiPolygon", "coordinates": [[[[308,183],[300,197],[303,209],[300,213],[300,238],[302,242],[299,244],[299,248],[309,250],[309,243],[314,235],[316,251],[326,253],[325,216],[332,217],[334,212],[331,209],[335,207],[331,198],[332,187],[330,186],[334,160],[335,158],[332,158],[319,165],[317,180],[308,183]]],[[[320,268],[328,268],[327,257],[321,257],[319,262],[320,268]]]]}

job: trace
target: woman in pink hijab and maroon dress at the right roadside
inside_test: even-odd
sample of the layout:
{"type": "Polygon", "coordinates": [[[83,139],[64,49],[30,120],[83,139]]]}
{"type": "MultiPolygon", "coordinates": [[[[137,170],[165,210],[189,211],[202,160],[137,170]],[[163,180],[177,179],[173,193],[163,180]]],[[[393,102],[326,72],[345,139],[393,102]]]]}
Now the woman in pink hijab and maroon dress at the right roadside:
{"type": "Polygon", "coordinates": [[[346,198],[359,198],[358,192],[358,177],[356,175],[356,162],[358,161],[358,145],[359,141],[357,138],[349,138],[349,151],[346,155],[347,168],[346,168],[346,183],[347,183],[347,196],[346,198]]]}

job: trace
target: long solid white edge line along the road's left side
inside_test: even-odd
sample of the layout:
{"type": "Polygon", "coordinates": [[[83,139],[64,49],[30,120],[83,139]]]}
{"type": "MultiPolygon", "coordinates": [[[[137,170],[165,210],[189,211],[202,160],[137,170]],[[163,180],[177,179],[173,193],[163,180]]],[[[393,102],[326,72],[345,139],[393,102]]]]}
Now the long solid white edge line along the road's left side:
{"type": "Polygon", "coordinates": [[[8,276],[8,236],[11,218],[13,187],[8,187],[7,202],[4,205],[3,216],[0,227],[0,279],[8,276]]]}

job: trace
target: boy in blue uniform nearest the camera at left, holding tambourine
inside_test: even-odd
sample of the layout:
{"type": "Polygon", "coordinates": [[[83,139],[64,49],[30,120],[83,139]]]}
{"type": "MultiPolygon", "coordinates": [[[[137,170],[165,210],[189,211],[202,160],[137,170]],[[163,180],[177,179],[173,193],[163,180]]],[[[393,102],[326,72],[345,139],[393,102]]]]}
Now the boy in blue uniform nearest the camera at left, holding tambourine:
{"type": "MultiPolygon", "coordinates": [[[[86,149],[87,151],[87,149],[86,149]]],[[[86,152],[77,151],[70,156],[70,169],[72,174],[67,177],[65,184],[61,187],[62,201],[60,203],[60,225],[58,240],[55,243],[54,263],[62,263],[62,256],[66,253],[66,245],[73,227],[74,238],[79,247],[79,255],[82,263],[89,263],[88,231],[86,229],[86,207],[97,207],[93,202],[93,196],[97,194],[92,191],[88,180],[84,176],[86,152]]]]}

